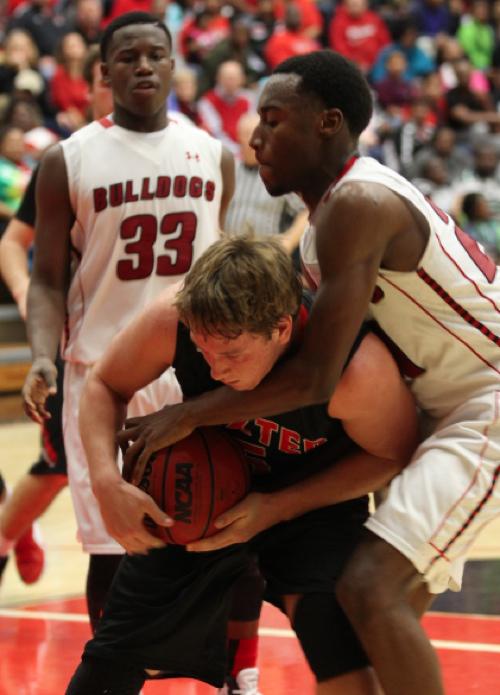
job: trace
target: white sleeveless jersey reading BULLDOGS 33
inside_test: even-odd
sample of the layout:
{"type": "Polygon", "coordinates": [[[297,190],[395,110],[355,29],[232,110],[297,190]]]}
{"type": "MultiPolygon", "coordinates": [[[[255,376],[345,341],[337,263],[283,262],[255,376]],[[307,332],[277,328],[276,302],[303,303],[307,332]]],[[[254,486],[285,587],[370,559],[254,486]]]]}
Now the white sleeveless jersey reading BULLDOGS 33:
{"type": "Polygon", "coordinates": [[[61,146],[78,262],[63,355],[91,364],[219,238],[222,146],[173,120],[161,131],[139,133],[110,118],[61,146]]]}

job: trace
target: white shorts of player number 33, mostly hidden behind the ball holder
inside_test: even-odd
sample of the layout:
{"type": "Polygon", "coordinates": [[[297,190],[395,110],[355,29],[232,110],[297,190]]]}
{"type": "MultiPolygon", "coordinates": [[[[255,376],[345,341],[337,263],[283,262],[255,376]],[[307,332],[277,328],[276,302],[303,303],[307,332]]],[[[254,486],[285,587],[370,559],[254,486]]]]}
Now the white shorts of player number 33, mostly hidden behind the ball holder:
{"type": "MultiPolygon", "coordinates": [[[[99,505],[90,486],[87,459],[80,438],[78,410],[83,385],[90,367],[66,362],[64,371],[63,432],[68,480],[83,550],[93,555],[113,555],[125,552],[106,531],[99,505]]],[[[160,410],[167,403],[182,400],[181,389],[172,369],[146,388],[138,391],[130,401],[127,414],[147,415],[160,410]]],[[[121,466],[121,461],[118,462],[121,466]]]]}

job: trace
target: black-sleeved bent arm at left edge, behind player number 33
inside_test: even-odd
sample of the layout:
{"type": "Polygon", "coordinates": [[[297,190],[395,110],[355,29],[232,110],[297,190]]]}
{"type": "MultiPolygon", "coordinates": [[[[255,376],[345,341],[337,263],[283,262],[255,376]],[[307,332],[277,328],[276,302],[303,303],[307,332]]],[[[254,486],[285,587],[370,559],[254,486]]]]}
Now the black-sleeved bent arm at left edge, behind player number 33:
{"type": "Polygon", "coordinates": [[[28,251],[35,237],[35,181],[36,170],[18,211],[0,240],[0,273],[25,320],[29,286],[28,251]]]}

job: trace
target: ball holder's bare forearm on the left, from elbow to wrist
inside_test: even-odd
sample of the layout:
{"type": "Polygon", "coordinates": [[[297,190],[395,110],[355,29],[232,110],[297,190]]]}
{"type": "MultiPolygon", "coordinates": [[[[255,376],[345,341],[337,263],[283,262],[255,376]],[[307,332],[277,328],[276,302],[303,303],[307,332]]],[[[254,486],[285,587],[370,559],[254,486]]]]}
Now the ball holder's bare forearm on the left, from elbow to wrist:
{"type": "Polygon", "coordinates": [[[98,499],[121,479],[115,433],[123,425],[126,409],[126,403],[92,372],[80,400],[79,425],[92,490],[98,499]]]}

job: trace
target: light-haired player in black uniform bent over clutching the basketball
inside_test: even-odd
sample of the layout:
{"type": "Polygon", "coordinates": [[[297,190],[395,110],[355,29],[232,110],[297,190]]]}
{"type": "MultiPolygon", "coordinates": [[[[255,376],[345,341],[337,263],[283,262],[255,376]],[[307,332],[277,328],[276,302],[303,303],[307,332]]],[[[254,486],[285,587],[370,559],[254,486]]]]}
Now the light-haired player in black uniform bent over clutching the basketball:
{"type": "Polygon", "coordinates": [[[218,541],[217,536],[202,541],[219,544],[209,552],[160,548],[142,519],[147,513],[163,523],[164,514],[104,460],[108,453],[113,460],[113,424],[139,382],[171,364],[186,399],[220,381],[251,388],[300,344],[309,305],[276,241],[223,240],[195,264],[175,304],[162,297],[151,305],[96,365],[82,398],[81,428],[103,518],[129,552],[155,549],[125,556],[68,695],[132,695],[147,677],[185,676],[220,686],[231,589],[255,557],[266,598],[290,616],[322,692],[341,693],[344,685],[360,695],[377,692],[365,654],[337,604],[335,580],[360,538],[368,515],[366,493],[404,465],[416,417],[392,358],[366,328],[345,370],[345,387],[347,380],[350,387],[341,404],[337,399],[335,405],[334,397],[328,404],[234,423],[227,430],[252,448],[254,460],[258,454],[253,491],[239,508],[246,505],[248,512],[258,506],[254,516],[260,533],[254,521],[252,530],[240,529],[240,537],[232,537],[227,527],[218,541]],[[211,291],[215,285],[218,292],[211,291]],[[197,290],[201,304],[196,299],[189,304],[190,293],[197,290]],[[221,301],[226,321],[231,318],[218,352],[211,341],[225,327],[221,301]],[[210,324],[207,316],[217,318],[210,324]],[[267,321],[265,327],[255,323],[256,316],[267,321]],[[384,384],[383,399],[377,397],[377,379],[384,384]],[[377,387],[369,394],[371,402],[375,397],[373,411],[366,403],[361,407],[367,385],[377,387]],[[348,419],[344,422],[337,412],[348,419]],[[272,504],[266,506],[265,500],[272,504]],[[247,538],[247,543],[235,543],[247,538]]]}

